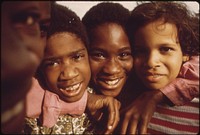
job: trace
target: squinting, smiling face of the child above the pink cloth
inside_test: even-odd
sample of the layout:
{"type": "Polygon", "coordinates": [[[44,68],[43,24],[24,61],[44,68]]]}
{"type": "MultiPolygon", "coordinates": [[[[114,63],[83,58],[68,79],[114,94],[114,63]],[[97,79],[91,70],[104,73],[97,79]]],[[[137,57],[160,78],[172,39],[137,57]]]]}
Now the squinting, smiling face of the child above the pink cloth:
{"type": "Polygon", "coordinates": [[[43,72],[50,91],[67,102],[79,100],[91,76],[83,42],[68,32],[51,36],[47,40],[43,72]]]}

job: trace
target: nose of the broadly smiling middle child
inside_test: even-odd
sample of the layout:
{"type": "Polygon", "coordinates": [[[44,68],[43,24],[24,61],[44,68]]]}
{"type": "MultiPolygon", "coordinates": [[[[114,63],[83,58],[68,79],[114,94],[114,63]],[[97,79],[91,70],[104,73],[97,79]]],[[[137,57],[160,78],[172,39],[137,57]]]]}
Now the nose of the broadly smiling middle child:
{"type": "Polygon", "coordinates": [[[104,67],[103,72],[108,75],[118,74],[120,72],[120,63],[116,58],[109,59],[104,67]]]}

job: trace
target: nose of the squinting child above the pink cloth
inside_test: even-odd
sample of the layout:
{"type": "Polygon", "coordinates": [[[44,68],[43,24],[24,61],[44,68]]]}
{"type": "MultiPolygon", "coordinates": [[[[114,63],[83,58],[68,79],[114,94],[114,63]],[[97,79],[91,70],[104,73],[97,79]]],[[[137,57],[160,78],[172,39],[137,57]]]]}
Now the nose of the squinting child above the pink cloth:
{"type": "Polygon", "coordinates": [[[77,67],[72,64],[64,63],[61,68],[60,79],[61,80],[70,80],[78,76],[77,67]]]}

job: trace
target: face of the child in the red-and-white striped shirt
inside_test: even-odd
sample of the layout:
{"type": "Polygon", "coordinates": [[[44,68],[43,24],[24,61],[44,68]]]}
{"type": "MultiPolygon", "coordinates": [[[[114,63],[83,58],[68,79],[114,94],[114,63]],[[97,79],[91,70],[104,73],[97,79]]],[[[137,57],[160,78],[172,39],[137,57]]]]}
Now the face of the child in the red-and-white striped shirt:
{"type": "Polygon", "coordinates": [[[134,68],[150,89],[161,89],[174,80],[183,54],[174,24],[157,20],[135,34],[134,68]]]}

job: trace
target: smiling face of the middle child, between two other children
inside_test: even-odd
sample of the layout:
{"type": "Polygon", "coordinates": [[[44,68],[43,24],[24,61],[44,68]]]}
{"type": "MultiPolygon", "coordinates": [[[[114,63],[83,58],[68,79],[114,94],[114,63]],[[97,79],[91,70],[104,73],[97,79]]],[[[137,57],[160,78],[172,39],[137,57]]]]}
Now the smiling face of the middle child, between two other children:
{"type": "Polygon", "coordinates": [[[93,30],[90,45],[92,81],[98,91],[116,97],[133,66],[129,40],[120,25],[106,23],[93,30]]]}

